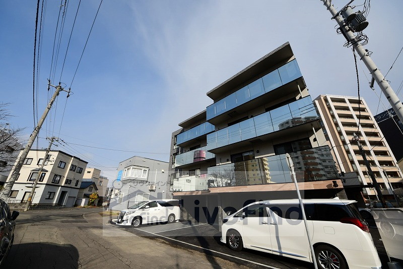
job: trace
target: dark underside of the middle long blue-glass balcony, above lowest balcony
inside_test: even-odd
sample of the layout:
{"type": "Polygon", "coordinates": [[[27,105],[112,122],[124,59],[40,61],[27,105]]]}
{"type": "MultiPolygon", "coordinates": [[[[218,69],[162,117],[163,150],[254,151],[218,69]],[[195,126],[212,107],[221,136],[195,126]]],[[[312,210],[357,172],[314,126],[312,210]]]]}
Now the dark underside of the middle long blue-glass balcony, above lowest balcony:
{"type": "Polygon", "coordinates": [[[279,131],[276,131],[273,133],[253,137],[248,140],[243,140],[243,141],[239,141],[237,143],[233,143],[233,144],[225,145],[225,146],[218,147],[215,149],[211,149],[208,151],[211,153],[214,153],[214,154],[226,152],[233,147],[238,148],[238,147],[248,146],[248,145],[254,144],[254,143],[271,141],[271,140],[274,140],[274,139],[280,138],[280,137],[293,136],[293,135],[295,135],[295,133],[300,134],[300,133],[309,132],[309,131],[312,132],[312,127],[315,128],[315,130],[318,130],[321,128],[319,119],[310,121],[307,123],[303,123],[301,125],[293,126],[293,127],[287,128],[287,129],[279,130],[279,131]]]}

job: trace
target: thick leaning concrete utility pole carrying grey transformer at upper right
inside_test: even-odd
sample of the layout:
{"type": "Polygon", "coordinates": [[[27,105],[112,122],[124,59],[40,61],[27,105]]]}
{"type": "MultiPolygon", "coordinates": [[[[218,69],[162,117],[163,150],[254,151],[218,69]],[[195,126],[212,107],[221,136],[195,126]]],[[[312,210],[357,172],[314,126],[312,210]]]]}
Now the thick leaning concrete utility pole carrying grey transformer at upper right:
{"type": "MultiPolygon", "coordinates": [[[[397,95],[394,93],[392,87],[389,85],[385,77],[382,75],[381,71],[376,67],[375,63],[372,61],[370,57],[370,53],[367,49],[361,45],[358,40],[356,40],[356,36],[353,34],[352,28],[346,24],[342,16],[340,16],[340,12],[334,9],[329,0],[321,0],[323,5],[330,11],[332,19],[335,19],[337,23],[340,25],[341,31],[343,31],[344,36],[347,38],[348,42],[351,42],[355,50],[357,51],[360,59],[364,62],[365,66],[368,68],[369,73],[372,75],[372,78],[375,79],[376,83],[378,83],[380,89],[383,94],[385,94],[386,99],[389,101],[392,106],[394,112],[397,117],[403,122],[403,105],[397,95]]],[[[354,0],[353,0],[354,1],[354,0]]],[[[351,4],[353,1],[350,1],[351,4]]],[[[347,8],[345,6],[342,10],[347,8]]]]}

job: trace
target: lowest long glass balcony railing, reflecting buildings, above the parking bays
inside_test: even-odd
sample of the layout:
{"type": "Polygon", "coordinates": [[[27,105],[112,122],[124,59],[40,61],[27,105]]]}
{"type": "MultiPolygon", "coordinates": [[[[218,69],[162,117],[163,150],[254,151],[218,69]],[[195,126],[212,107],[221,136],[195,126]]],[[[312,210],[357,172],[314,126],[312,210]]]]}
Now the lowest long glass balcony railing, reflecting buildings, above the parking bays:
{"type": "MultiPolygon", "coordinates": [[[[328,146],[290,152],[298,182],[339,178],[328,146]]],[[[286,154],[208,168],[209,188],[293,182],[286,154]]]]}

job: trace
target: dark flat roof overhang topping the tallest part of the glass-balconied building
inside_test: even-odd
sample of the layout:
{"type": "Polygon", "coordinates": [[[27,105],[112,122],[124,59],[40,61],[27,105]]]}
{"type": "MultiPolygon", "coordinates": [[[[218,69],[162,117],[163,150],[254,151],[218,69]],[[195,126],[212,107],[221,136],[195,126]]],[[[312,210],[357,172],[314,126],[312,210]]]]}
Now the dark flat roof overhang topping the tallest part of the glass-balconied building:
{"type": "Polygon", "coordinates": [[[272,71],[270,68],[281,63],[285,64],[292,57],[294,57],[294,53],[291,49],[290,43],[286,42],[253,64],[249,65],[241,72],[207,92],[207,96],[213,100],[221,99],[222,97],[225,97],[226,93],[233,91],[235,88],[239,87],[239,85],[256,78],[264,72],[268,73],[272,71]]]}

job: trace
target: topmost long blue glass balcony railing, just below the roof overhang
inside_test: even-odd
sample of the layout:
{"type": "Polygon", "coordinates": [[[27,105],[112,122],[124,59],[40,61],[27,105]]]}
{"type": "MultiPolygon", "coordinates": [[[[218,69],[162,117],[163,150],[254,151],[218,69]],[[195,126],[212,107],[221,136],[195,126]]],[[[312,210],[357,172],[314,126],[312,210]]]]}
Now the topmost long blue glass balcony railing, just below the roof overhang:
{"type": "Polygon", "coordinates": [[[206,109],[207,120],[213,119],[238,105],[246,103],[299,77],[302,77],[301,71],[298,67],[297,60],[293,60],[242,89],[209,105],[206,109]]]}

